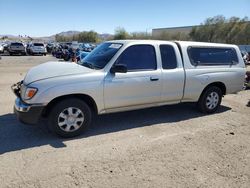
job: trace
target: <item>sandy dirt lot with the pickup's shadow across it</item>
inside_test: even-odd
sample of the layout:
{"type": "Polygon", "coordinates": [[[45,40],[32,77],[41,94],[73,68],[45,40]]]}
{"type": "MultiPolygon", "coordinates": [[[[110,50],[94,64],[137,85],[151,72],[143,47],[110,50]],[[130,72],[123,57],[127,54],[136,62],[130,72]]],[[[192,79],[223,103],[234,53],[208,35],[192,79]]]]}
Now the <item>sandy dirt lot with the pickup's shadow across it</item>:
{"type": "Polygon", "coordinates": [[[193,104],[104,115],[59,139],[12,113],[11,84],[50,60],[0,60],[0,187],[250,187],[250,90],[213,115],[193,104]]]}

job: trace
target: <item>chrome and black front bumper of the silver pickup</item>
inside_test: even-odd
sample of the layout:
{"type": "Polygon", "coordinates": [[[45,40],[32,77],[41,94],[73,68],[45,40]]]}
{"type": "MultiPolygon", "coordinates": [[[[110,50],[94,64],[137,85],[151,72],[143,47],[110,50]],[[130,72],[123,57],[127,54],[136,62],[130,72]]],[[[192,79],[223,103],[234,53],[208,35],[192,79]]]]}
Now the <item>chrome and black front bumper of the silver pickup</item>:
{"type": "Polygon", "coordinates": [[[16,98],[14,112],[18,119],[26,124],[36,124],[40,119],[45,106],[30,105],[16,98]]]}

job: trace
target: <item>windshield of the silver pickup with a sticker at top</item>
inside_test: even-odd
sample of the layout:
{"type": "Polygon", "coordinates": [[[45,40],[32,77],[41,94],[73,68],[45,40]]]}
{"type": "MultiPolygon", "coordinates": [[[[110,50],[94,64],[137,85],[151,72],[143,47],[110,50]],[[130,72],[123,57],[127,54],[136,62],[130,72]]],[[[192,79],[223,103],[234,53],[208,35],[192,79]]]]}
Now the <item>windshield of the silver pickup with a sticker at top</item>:
{"type": "Polygon", "coordinates": [[[121,47],[122,44],[118,43],[102,43],[88,54],[80,64],[93,69],[102,69],[121,47]]]}

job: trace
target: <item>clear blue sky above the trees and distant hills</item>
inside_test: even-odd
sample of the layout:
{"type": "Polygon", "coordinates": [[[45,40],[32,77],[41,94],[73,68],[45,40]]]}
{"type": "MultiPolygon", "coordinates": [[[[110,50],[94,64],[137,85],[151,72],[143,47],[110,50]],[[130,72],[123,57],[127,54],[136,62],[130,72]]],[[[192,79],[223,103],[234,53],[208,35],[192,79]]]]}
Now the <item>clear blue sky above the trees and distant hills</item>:
{"type": "Polygon", "coordinates": [[[113,34],[118,27],[151,32],[199,25],[216,15],[250,18],[250,0],[0,0],[0,35],[113,34]]]}

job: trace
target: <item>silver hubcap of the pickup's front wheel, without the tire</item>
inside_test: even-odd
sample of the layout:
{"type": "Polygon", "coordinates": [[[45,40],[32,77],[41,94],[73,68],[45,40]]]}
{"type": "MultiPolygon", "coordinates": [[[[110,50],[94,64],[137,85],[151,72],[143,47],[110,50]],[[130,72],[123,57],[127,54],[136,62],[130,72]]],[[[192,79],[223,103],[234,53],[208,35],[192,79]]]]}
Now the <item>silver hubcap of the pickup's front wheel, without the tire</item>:
{"type": "Polygon", "coordinates": [[[64,109],[58,116],[58,126],[65,132],[74,132],[78,130],[83,122],[83,112],[75,107],[64,109]]]}

